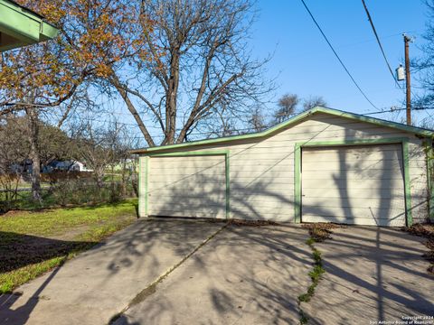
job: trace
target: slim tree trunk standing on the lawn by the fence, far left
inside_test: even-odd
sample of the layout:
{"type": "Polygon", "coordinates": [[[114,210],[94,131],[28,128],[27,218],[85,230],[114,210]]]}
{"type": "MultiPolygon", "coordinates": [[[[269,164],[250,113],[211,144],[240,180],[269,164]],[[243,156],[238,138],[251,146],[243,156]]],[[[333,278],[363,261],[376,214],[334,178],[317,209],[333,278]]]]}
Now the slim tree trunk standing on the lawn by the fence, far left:
{"type": "Polygon", "coordinates": [[[39,154],[39,117],[38,112],[26,108],[28,116],[28,137],[30,143],[30,159],[32,160],[32,199],[41,201],[41,157],[39,154]]]}

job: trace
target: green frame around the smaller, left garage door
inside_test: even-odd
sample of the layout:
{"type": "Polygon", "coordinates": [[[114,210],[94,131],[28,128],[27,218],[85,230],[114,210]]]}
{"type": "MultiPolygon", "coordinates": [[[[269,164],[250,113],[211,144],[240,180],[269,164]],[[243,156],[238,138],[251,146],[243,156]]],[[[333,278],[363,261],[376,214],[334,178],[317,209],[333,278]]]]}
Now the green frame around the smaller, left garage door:
{"type": "MultiPolygon", "coordinates": [[[[197,151],[197,152],[181,152],[181,153],[147,153],[146,159],[152,157],[191,157],[191,156],[211,156],[211,155],[224,155],[224,165],[225,165],[225,194],[226,194],[226,204],[225,204],[225,217],[231,218],[231,180],[230,180],[230,161],[229,161],[229,150],[209,150],[209,151],[197,151]]],[[[146,163],[146,216],[147,216],[147,181],[148,177],[148,163],[146,163]]]]}

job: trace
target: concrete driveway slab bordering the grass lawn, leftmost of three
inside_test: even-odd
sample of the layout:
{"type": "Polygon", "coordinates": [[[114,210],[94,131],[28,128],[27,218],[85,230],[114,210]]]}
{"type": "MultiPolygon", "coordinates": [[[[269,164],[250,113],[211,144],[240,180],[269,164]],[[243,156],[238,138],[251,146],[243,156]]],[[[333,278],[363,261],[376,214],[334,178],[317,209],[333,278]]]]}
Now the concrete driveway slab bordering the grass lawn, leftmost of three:
{"type": "Polygon", "coordinates": [[[222,228],[138,220],[107,242],[0,298],[0,324],[107,324],[141,289],[222,228]]]}

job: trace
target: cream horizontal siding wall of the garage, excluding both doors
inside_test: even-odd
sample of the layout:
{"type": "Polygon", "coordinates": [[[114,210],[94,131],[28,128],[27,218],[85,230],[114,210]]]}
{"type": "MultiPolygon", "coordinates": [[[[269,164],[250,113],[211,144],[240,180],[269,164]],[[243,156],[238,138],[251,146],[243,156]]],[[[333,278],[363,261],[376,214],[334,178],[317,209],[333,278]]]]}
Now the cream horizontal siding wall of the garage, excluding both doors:
{"type": "Polygon", "coordinates": [[[316,113],[268,138],[200,145],[171,152],[229,149],[231,218],[294,221],[296,143],[392,137],[410,139],[412,215],[415,221],[422,220],[428,217],[426,154],[422,140],[392,128],[316,113]]]}

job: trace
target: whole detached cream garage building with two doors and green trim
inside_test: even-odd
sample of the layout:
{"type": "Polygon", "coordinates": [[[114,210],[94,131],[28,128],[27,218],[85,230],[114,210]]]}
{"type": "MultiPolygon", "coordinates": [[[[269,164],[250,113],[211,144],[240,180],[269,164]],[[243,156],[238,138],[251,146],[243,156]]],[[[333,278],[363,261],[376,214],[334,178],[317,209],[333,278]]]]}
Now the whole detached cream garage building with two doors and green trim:
{"type": "Polygon", "coordinates": [[[411,225],[433,218],[433,135],[315,107],[258,134],[136,150],[139,214],[411,225]]]}

